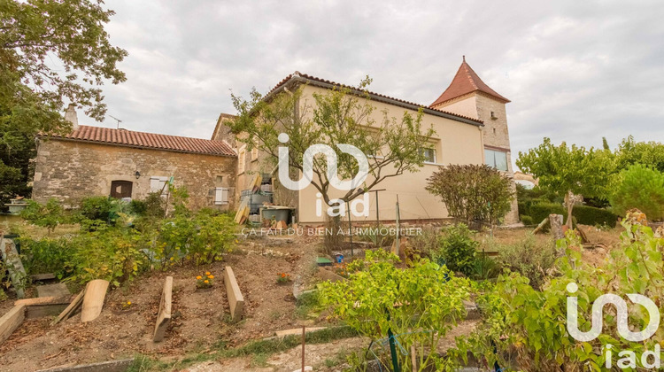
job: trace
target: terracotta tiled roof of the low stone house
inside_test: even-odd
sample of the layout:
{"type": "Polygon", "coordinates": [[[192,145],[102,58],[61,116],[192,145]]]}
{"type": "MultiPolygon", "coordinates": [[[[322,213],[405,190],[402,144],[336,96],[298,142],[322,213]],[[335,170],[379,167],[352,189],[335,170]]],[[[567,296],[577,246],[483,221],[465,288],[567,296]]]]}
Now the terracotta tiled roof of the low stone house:
{"type": "MultiPolygon", "coordinates": [[[[42,137],[49,136],[42,135],[42,137]]],[[[135,132],[127,129],[100,128],[81,125],[68,135],[51,135],[50,137],[69,141],[135,147],[139,149],[188,152],[215,156],[237,156],[230,145],[224,141],[157,135],[154,133],[135,132]]]]}

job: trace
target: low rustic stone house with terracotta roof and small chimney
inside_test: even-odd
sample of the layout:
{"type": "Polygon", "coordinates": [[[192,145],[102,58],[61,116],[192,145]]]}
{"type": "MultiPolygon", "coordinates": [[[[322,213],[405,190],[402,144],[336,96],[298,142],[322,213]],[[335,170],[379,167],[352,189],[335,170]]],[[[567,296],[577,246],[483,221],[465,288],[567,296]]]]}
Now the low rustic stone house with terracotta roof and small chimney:
{"type": "Polygon", "coordinates": [[[72,106],[66,119],[72,133],[37,138],[36,201],[57,198],[73,206],[99,195],[142,199],[166,193],[172,178],[187,188],[192,208],[234,209],[237,155],[228,143],[80,126],[72,106]]]}

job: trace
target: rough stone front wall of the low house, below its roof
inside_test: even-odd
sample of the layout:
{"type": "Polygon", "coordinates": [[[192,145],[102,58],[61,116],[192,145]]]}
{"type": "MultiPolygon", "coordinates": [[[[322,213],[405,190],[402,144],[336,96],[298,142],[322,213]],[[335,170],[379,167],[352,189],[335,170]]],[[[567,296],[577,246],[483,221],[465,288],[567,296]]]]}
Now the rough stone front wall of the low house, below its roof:
{"type": "Polygon", "coordinates": [[[151,192],[151,177],[174,176],[189,191],[189,206],[234,209],[237,159],[204,154],[135,149],[100,143],[39,140],[33,198],[76,205],[81,198],[110,195],[111,182],[133,182],[132,198],[151,192]],[[136,171],[140,176],[136,178],[136,171]],[[228,188],[228,205],[214,205],[214,189],[228,188]]]}

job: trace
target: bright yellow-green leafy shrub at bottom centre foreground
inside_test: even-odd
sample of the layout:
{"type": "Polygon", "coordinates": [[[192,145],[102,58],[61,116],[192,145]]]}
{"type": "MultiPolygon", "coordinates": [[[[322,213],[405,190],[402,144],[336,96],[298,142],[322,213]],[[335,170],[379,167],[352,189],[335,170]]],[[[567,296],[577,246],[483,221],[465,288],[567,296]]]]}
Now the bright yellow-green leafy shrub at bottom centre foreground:
{"type": "MultiPolygon", "coordinates": [[[[382,250],[366,253],[365,260],[349,265],[348,280],[320,284],[321,305],[374,342],[387,339],[391,331],[401,350],[408,351],[396,353],[399,365],[409,366],[413,358],[419,360],[421,370],[446,370],[438,346],[465,315],[468,280],[454,277],[426,259],[401,269],[394,266],[398,258],[393,254],[382,250]]],[[[388,360],[381,358],[379,363],[391,370],[388,360]]]]}

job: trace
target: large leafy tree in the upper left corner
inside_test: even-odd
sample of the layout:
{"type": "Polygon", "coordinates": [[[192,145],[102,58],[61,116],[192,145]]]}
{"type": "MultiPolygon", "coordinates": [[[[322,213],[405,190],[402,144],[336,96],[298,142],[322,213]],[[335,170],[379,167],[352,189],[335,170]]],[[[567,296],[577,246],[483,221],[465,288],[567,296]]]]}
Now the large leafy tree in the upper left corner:
{"type": "Polygon", "coordinates": [[[114,12],[92,0],[0,3],[0,203],[30,192],[35,135],[66,131],[66,101],[103,120],[99,89],[126,77],[127,52],[104,31],[114,12]]]}

